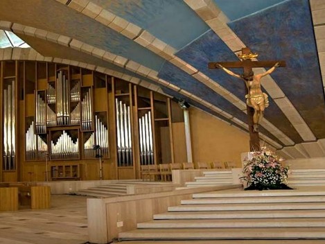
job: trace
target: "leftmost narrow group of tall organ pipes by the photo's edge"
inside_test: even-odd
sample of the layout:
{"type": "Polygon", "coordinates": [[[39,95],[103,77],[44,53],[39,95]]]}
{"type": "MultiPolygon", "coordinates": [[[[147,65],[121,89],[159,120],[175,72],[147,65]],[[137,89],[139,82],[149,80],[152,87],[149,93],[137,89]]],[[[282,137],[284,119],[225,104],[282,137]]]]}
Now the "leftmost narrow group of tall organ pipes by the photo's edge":
{"type": "Polygon", "coordinates": [[[15,80],[3,85],[3,170],[11,171],[15,164],[15,80]]]}

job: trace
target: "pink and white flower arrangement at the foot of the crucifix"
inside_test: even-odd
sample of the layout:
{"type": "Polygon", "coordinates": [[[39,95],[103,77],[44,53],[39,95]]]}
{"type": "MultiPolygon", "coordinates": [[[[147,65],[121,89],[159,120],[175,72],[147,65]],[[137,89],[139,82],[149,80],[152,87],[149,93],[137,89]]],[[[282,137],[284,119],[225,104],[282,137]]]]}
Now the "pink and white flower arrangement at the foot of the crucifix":
{"type": "Polygon", "coordinates": [[[252,153],[243,168],[242,182],[247,182],[245,190],[292,189],[287,186],[288,167],[281,165],[281,159],[265,148],[252,153]]]}

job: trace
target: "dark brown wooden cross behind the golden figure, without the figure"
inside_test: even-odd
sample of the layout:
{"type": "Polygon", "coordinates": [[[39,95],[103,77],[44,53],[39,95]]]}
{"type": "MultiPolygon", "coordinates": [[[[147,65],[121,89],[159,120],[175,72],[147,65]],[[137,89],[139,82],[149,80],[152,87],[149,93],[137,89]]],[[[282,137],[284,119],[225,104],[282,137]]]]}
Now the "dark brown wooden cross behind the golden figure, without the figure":
{"type": "MultiPolygon", "coordinates": [[[[249,48],[242,49],[242,55],[252,54],[249,48]]],[[[218,69],[218,64],[221,64],[225,68],[243,68],[244,73],[249,73],[252,68],[257,67],[273,67],[276,62],[279,62],[279,67],[286,67],[285,61],[252,61],[251,58],[244,59],[237,62],[209,62],[209,69],[218,69]]],[[[249,94],[248,87],[245,85],[246,94],[249,94]]],[[[258,130],[254,130],[254,108],[247,105],[247,119],[249,128],[249,148],[251,151],[260,151],[260,139],[258,136],[258,130]]]]}

